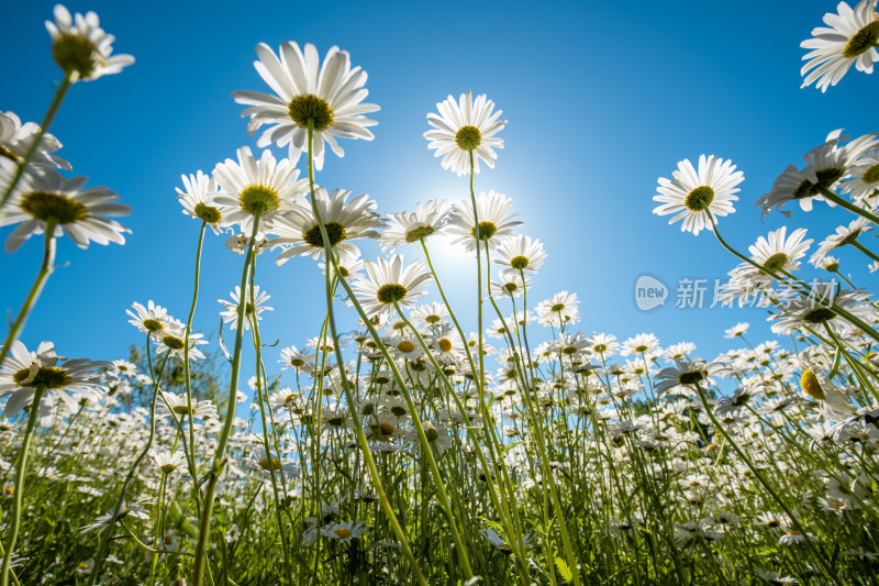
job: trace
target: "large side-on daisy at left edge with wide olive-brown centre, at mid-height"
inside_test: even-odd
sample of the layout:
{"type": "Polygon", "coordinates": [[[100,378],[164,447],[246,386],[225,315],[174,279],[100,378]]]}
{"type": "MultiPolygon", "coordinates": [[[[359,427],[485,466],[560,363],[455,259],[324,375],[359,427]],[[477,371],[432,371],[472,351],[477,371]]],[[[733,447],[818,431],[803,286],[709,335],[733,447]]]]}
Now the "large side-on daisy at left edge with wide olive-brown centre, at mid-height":
{"type": "Polygon", "coordinates": [[[114,203],[119,196],[107,187],[84,189],[86,181],[88,177],[65,180],[51,168],[22,175],[4,208],[7,215],[0,219],[0,226],[21,222],[7,239],[7,252],[13,253],[32,235],[45,233],[48,223],[55,226],[55,237],[66,233],[80,248],[88,248],[89,242],[124,244],[122,234],[131,230],[102,215],[127,215],[131,208],[114,203]]]}

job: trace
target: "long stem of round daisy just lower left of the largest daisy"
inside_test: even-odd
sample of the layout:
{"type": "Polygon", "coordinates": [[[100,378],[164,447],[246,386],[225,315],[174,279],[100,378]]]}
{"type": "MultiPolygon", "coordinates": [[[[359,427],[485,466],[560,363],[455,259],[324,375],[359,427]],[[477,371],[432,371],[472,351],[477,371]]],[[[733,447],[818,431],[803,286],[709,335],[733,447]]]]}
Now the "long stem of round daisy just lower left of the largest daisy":
{"type": "Polygon", "coordinates": [[[254,257],[254,243],[256,242],[256,234],[259,230],[259,214],[254,214],[254,229],[251,232],[251,241],[247,243],[247,255],[244,259],[244,270],[241,275],[241,298],[238,299],[238,328],[235,332],[235,350],[232,355],[232,369],[229,375],[229,399],[226,401],[226,414],[223,420],[223,429],[220,432],[220,439],[216,444],[216,453],[213,456],[213,464],[211,465],[211,473],[208,478],[208,487],[204,490],[204,504],[201,508],[201,517],[199,519],[199,542],[196,546],[196,563],[192,568],[192,584],[201,586],[204,579],[204,570],[208,565],[208,544],[211,540],[211,517],[213,516],[213,497],[216,490],[216,485],[220,482],[220,475],[225,468],[225,452],[226,444],[229,444],[229,436],[232,433],[232,423],[235,420],[235,407],[237,405],[238,392],[238,372],[241,369],[241,347],[244,338],[244,318],[246,312],[247,297],[244,291],[247,287],[247,276],[249,275],[251,263],[254,257]]]}

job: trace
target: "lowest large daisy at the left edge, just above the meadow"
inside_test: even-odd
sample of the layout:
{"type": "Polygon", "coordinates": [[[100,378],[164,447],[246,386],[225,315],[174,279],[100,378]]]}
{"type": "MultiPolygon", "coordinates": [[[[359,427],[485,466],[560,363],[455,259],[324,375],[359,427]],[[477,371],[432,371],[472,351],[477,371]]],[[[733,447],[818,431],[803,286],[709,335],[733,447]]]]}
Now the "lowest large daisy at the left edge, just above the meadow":
{"type": "Polygon", "coordinates": [[[68,361],[55,354],[52,342],[41,342],[35,352],[29,352],[21,341],[10,345],[10,352],[0,365],[0,398],[9,397],[3,414],[12,417],[29,405],[37,388],[43,389],[41,403],[52,405],[60,399],[71,412],[79,408],[78,397],[98,400],[104,392],[104,374],[101,368],[109,362],[86,358],[68,361]],[[67,361],[57,366],[58,361],[67,361]]]}

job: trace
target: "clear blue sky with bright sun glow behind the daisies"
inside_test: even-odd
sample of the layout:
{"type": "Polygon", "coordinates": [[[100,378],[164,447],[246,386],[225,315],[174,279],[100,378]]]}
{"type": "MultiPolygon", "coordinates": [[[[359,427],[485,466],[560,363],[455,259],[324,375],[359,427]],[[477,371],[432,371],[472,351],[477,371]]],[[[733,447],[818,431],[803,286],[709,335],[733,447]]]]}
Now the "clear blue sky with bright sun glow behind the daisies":
{"type": "MultiPolygon", "coordinates": [[[[53,2],[15,2],[0,24],[0,110],[38,121],[60,73],[43,22],[53,2]],[[11,58],[14,57],[14,58],[11,58]]],[[[254,47],[285,41],[314,43],[323,55],[347,49],[369,74],[367,101],[381,106],[375,141],[347,141],[345,157],[327,155],[318,181],[367,192],[379,211],[412,210],[415,202],[465,197],[466,178],[444,172],[426,147],[425,115],[449,93],[487,93],[509,124],[500,134],[494,170],[476,179],[514,200],[520,233],[544,242],[549,258],[534,280],[536,302],[559,290],[580,297],[586,332],[621,341],[654,332],[664,345],[691,341],[698,355],[727,347],[723,330],[752,323],[750,339],[775,338],[760,309],[678,309],[681,277],[723,278],[736,263],[711,233],[681,233],[652,213],[657,177],[700,154],[731,158],[745,173],[737,212],[720,228],[739,250],[786,222],[805,226],[815,242],[849,215],[817,202],[795,206],[786,220],[760,223],[754,201],[789,164],[834,129],[860,135],[876,79],[854,69],[826,95],[800,89],[801,41],[821,25],[834,2],[241,2],[67,4],[96,11],[116,36],[114,51],[134,55],[122,74],[77,84],[52,132],[59,154],[90,185],[108,185],[134,211],[123,223],[124,246],[58,246],[59,267],[32,313],[22,341],[56,343],[71,357],[124,357],[142,336],[126,321],[133,301],[148,299],[185,319],[191,299],[198,223],[180,211],[174,188],[180,175],[210,172],[234,157],[246,133],[236,89],[268,91],[253,67],[254,47]],[[666,307],[639,311],[634,284],[650,274],[670,290],[666,307]]],[[[282,151],[276,154],[283,156],[282,151]]],[[[300,168],[302,162],[300,162],[300,168]]],[[[11,228],[0,230],[5,239],[11,228]]],[[[196,328],[219,324],[218,298],[240,281],[243,257],[224,237],[207,236],[196,328]]],[[[870,239],[872,241],[872,239],[870,239]]],[[[41,259],[40,239],[13,255],[2,253],[0,309],[14,314],[41,259]]],[[[375,246],[361,246],[375,258],[375,246]]],[[[271,253],[269,253],[271,254],[271,253]]],[[[316,264],[274,266],[260,257],[257,281],[275,311],[263,340],[278,347],[316,335],[323,280],[316,264]]],[[[437,269],[458,311],[475,328],[472,262],[437,251],[437,269]],[[468,270],[472,275],[468,274],[468,270]]],[[[875,283],[863,257],[841,254],[843,269],[861,285],[875,283]],[[846,259],[850,259],[846,264],[846,259]],[[872,280],[870,280],[872,279],[872,280]]],[[[407,252],[412,257],[412,252],[407,252]]],[[[806,273],[808,275],[816,273],[806,273]]],[[[711,289],[709,288],[710,302],[711,289]]],[[[354,325],[341,310],[342,330],[354,325]]],[[[490,320],[489,320],[490,323],[490,320]]],[[[5,331],[5,330],[4,330],[5,331]]],[[[266,352],[272,363],[276,352],[266,352]]],[[[245,374],[245,379],[247,374],[245,374]]]]}

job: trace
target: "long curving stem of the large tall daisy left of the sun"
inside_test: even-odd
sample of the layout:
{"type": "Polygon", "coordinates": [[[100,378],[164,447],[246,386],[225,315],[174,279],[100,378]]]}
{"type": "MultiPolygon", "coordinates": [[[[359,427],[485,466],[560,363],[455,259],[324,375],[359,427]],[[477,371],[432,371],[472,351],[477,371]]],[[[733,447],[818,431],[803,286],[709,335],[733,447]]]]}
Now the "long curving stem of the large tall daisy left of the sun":
{"type": "MultiPolygon", "coordinates": [[[[336,263],[335,256],[333,255],[332,246],[330,245],[330,235],[326,233],[326,225],[323,223],[323,219],[321,218],[321,212],[318,209],[318,202],[314,199],[314,162],[312,156],[312,143],[314,140],[314,120],[309,119],[309,190],[311,192],[311,209],[314,213],[314,218],[318,220],[318,225],[320,226],[321,237],[323,239],[324,245],[324,254],[326,255],[326,313],[329,317],[330,322],[330,332],[333,336],[333,347],[341,349],[341,344],[338,342],[338,333],[336,332],[336,323],[335,323],[335,316],[333,313],[333,298],[332,298],[332,283],[331,283],[331,265],[332,270],[336,275],[338,275],[338,264],[336,263]]],[[[343,287],[345,287],[345,291],[348,294],[348,297],[354,300],[354,292],[351,290],[348,285],[345,283],[345,279],[340,278],[343,287]]],[[[369,320],[366,320],[366,325],[369,328],[370,333],[376,340],[379,340],[378,335],[372,328],[372,324],[369,320]]],[[[387,354],[387,350],[385,351],[387,354]]],[[[354,396],[352,395],[351,387],[348,385],[347,376],[345,375],[345,363],[342,358],[340,352],[334,353],[336,355],[336,361],[338,363],[338,368],[341,373],[341,380],[342,380],[342,388],[345,392],[345,400],[348,403],[348,411],[351,412],[352,419],[354,420],[354,432],[357,436],[357,443],[360,446],[360,452],[364,454],[364,462],[366,463],[367,469],[369,469],[369,476],[372,479],[372,486],[376,488],[378,493],[379,502],[381,504],[381,510],[385,511],[386,517],[388,518],[388,522],[391,526],[391,530],[393,534],[397,535],[397,539],[400,541],[400,549],[403,552],[407,561],[409,561],[409,565],[412,568],[412,572],[415,574],[415,581],[421,586],[426,586],[427,581],[424,578],[424,574],[421,572],[421,566],[419,565],[415,556],[412,553],[412,549],[409,546],[409,540],[405,537],[405,532],[403,528],[400,526],[400,521],[397,519],[397,515],[393,512],[391,508],[390,500],[388,500],[388,495],[385,491],[385,486],[381,483],[381,476],[378,472],[378,466],[376,466],[376,461],[372,457],[372,452],[369,447],[369,442],[366,439],[366,434],[364,433],[363,427],[360,427],[359,418],[357,417],[357,408],[354,403],[354,396]]],[[[198,586],[198,585],[197,585],[198,586]]]]}

